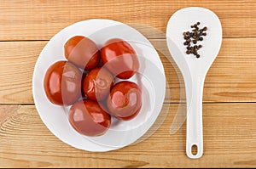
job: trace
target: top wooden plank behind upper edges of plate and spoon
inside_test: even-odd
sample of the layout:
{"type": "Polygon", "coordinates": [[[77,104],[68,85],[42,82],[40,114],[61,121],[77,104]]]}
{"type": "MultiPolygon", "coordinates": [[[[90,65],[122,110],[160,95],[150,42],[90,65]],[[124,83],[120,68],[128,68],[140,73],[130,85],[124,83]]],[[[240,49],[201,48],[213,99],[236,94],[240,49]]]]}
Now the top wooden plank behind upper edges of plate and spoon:
{"type": "MultiPolygon", "coordinates": [[[[162,38],[166,23],[179,8],[200,6],[218,14],[224,37],[255,37],[254,0],[224,1],[18,1],[0,3],[0,40],[49,40],[67,25],[89,19],[110,19],[135,26],[144,35],[162,38]],[[150,26],[151,28],[148,28],[150,26]],[[156,31],[152,31],[152,27],[156,31]],[[242,30],[242,31],[241,31],[242,30]]],[[[199,19],[200,20],[200,19],[199,19]]]]}

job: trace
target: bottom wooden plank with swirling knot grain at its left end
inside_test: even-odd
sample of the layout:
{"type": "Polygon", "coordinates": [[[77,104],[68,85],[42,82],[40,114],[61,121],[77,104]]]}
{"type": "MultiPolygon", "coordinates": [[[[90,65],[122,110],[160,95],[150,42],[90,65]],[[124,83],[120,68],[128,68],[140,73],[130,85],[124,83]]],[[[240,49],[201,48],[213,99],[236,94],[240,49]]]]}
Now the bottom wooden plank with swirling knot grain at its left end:
{"type": "Polygon", "coordinates": [[[256,104],[203,104],[204,155],[185,155],[185,125],[170,126],[178,104],[164,104],[161,127],[141,143],[105,153],[64,144],[49,132],[34,105],[0,105],[1,167],[255,167],[256,104]],[[170,106],[170,107],[169,107],[170,106]],[[4,116],[3,116],[4,114],[4,116]]]}

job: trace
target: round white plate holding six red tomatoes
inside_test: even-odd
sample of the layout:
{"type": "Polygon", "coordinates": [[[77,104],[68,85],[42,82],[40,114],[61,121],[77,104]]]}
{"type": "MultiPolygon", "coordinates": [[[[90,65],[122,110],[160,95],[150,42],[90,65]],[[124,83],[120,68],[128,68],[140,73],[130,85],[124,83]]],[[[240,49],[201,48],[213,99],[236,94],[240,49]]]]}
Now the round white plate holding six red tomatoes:
{"type": "Polygon", "coordinates": [[[67,26],[46,44],[35,65],[32,93],[38,114],[57,138],[77,149],[108,151],[134,143],[154,124],[165,99],[166,76],[159,55],[140,32],[113,20],[84,20],[67,26]],[[46,70],[57,60],[65,60],[64,44],[76,35],[90,37],[99,47],[110,38],[122,38],[136,50],[140,62],[139,73],[130,81],[142,87],[142,110],[131,121],[112,118],[111,127],[101,137],[84,137],[74,131],[67,119],[68,108],[51,104],[44,93],[46,70]]]}

